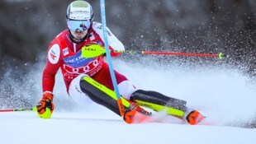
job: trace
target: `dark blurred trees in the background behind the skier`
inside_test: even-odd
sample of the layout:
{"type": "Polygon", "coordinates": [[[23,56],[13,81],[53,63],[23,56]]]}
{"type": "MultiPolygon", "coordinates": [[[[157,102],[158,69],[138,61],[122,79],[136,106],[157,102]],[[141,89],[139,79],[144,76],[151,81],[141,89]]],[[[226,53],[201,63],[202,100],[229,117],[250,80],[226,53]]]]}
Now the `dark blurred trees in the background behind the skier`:
{"type": "MultiPolygon", "coordinates": [[[[66,29],[68,1],[0,2],[1,72],[36,63],[66,29]]],[[[101,21],[99,0],[88,0],[101,21]]],[[[126,49],[227,53],[255,74],[255,0],[107,0],[107,26],[126,49]],[[245,64],[244,64],[245,63],[245,64]]]]}

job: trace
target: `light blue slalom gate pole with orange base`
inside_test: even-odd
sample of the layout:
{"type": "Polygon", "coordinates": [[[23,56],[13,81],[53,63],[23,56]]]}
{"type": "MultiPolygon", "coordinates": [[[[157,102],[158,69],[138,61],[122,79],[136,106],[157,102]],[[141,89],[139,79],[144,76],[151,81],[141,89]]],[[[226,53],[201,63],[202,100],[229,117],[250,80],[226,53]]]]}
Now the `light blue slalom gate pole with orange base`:
{"type": "Polygon", "coordinates": [[[124,110],[124,106],[122,105],[121,95],[118,90],[118,86],[117,86],[117,82],[116,82],[116,75],[115,75],[114,68],[112,65],[110,49],[109,49],[109,44],[108,44],[108,40],[107,40],[107,22],[106,22],[106,12],[105,12],[105,0],[101,0],[101,16],[102,16],[102,32],[103,32],[104,44],[105,44],[106,55],[107,55],[107,63],[109,66],[109,71],[111,73],[111,80],[112,80],[112,84],[114,86],[114,91],[116,93],[117,105],[118,105],[121,116],[123,116],[125,110],[124,110]]]}

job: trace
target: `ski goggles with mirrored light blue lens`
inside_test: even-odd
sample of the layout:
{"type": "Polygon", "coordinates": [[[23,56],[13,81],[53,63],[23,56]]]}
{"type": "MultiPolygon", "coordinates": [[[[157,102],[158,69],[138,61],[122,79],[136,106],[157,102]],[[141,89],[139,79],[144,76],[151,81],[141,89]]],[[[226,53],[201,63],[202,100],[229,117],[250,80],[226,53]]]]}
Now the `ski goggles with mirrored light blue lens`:
{"type": "Polygon", "coordinates": [[[82,21],[82,20],[68,20],[68,27],[69,30],[75,31],[75,30],[88,30],[91,26],[91,22],[89,20],[82,21]]]}

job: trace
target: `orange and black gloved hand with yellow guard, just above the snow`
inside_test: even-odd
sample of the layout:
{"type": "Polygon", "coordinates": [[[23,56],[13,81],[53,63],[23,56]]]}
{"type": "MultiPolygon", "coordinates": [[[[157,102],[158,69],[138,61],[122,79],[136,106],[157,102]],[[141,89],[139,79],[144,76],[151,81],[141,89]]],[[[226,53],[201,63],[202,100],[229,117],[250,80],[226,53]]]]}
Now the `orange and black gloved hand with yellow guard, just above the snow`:
{"type": "Polygon", "coordinates": [[[55,109],[53,98],[54,95],[45,92],[42,100],[40,100],[36,107],[34,107],[40,118],[51,118],[51,114],[55,109]]]}

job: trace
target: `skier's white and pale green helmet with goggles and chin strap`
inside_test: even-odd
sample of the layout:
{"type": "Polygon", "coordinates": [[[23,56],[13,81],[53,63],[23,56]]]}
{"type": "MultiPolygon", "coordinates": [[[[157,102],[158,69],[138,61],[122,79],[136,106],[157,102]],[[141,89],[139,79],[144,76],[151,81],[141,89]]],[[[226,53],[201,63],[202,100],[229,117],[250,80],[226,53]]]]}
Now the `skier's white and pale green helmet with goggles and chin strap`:
{"type": "MultiPolygon", "coordinates": [[[[69,28],[69,36],[75,43],[78,43],[82,40],[77,41],[74,39],[73,35],[70,33],[70,30],[88,30],[89,35],[93,20],[92,6],[85,1],[71,2],[67,8],[66,18],[69,28]]],[[[86,39],[88,35],[86,35],[84,39],[86,39]]]]}

